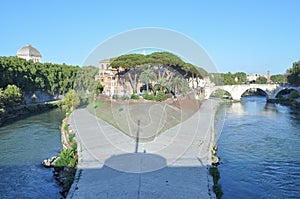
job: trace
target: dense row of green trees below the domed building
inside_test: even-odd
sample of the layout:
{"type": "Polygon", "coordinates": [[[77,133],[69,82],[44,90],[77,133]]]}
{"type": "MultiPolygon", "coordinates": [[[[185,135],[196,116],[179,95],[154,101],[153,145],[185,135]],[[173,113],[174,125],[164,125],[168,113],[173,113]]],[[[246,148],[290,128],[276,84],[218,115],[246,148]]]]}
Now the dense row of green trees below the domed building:
{"type": "Polygon", "coordinates": [[[64,94],[73,87],[78,66],[34,63],[18,57],[0,57],[0,88],[9,84],[22,91],[64,94]]]}

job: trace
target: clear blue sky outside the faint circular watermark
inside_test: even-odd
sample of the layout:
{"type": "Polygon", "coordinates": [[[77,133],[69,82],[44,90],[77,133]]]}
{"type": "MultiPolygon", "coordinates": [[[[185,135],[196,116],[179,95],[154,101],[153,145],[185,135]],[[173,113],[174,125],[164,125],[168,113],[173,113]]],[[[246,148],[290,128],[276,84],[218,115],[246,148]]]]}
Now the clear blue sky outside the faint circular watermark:
{"type": "Polygon", "coordinates": [[[205,49],[220,72],[284,73],[300,60],[300,1],[2,1],[0,55],[25,44],[43,61],[81,65],[121,32],[160,27],[205,49]]]}

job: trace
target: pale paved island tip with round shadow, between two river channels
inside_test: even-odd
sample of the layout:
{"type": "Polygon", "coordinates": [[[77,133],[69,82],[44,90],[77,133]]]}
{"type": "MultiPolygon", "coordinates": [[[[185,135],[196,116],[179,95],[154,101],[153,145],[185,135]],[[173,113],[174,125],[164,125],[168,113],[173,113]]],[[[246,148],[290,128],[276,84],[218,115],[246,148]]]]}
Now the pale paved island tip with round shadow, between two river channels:
{"type": "Polygon", "coordinates": [[[70,127],[78,140],[79,164],[68,198],[212,198],[217,104],[204,101],[192,117],[143,143],[85,109],[75,110],[70,127]]]}

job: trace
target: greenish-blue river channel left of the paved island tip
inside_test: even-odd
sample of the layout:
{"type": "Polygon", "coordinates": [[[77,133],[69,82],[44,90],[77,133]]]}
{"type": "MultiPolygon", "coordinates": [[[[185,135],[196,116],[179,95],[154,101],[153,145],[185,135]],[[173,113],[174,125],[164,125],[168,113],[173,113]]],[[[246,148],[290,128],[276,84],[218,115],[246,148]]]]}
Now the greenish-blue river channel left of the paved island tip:
{"type": "Polygon", "coordinates": [[[0,127],[0,198],[60,198],[41,162],[61,149],[63,117],[56,109],[0,127]]]}

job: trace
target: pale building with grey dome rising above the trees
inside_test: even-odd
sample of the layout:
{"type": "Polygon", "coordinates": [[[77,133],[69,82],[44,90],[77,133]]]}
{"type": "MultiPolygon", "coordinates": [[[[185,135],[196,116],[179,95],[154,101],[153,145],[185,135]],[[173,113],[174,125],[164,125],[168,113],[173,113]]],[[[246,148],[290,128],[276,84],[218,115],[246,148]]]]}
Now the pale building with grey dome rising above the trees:
{"type": "Polygon", "coordinates": [[[34,63],[42,62],[42,55],[40,51],[29,44],[18,50],[17,57],[26,59],[27,61],[33,60],[34,63]]]}

